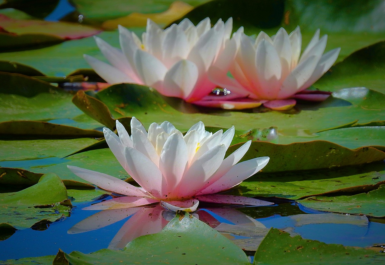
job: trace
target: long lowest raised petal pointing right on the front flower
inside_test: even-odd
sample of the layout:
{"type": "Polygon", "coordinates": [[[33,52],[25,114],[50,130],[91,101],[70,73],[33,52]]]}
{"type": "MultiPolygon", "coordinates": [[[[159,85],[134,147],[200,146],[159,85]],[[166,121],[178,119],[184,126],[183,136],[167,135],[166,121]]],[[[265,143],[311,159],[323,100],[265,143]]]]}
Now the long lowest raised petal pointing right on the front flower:
{"type": "Polygon", "coordinates": [[[199,192],[199,195],[224,191],[253,176],[269,162],[269,157],[257,157],[234,165],[218,181],[199,192]]]}

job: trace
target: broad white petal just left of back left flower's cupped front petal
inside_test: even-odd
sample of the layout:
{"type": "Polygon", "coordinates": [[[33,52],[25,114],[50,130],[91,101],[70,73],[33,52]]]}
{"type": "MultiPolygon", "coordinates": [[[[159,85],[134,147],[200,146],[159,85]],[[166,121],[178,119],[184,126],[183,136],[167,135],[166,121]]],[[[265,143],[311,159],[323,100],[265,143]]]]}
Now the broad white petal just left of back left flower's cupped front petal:
{"type": "Polygon", "coordinates": [[[143,83],[154,88],[159,86],[167,72],[167,68],[159,59],[139,49],[134,53],[134,63],[143,83]]]}

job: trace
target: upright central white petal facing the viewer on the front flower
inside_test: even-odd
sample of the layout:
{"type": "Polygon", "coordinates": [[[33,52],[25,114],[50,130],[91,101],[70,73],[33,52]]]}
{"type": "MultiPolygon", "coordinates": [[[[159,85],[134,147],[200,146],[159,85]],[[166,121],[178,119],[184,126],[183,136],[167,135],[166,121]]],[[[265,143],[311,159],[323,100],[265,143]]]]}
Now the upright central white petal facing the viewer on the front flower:
{"type": "Polygon", "coordinates": [[[187,145],[183,137],[173,133],[164,143],[160,155],[159,169],[172,191],[182,179],[187,164],[187,145]]]}

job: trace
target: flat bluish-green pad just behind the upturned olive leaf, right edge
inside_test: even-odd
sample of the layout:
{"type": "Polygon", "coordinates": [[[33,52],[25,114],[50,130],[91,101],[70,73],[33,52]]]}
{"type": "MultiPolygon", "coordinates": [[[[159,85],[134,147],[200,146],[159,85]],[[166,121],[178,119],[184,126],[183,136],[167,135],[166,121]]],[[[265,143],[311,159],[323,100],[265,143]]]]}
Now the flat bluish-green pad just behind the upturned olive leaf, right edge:
{"type": "Polygon", "coordinates": [[[360,147],[375,147],[381,151],[385,151],[385,127],[351,127],[340,128],[335,130],[326,130],[319,133],[312,133],[307,137],[282,137],[280,136],[281,144],[288,144],[293,141],[309,142],[314,140],[323,140],[337,143],[349,149],[360,147]]]}

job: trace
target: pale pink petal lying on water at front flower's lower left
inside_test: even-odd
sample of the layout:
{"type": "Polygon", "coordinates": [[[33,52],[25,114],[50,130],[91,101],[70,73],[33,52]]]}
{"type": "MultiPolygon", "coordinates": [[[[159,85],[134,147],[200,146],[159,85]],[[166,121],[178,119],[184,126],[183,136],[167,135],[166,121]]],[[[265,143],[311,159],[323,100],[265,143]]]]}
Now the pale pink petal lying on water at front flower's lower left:
{"type": "Polygon", "coordinates": [[[102,201],[100,203],[93,204],[91,206],[83,208],[83,210],[110,210],[110,209],[123,209],[132,208],[138,206],[144,206],[148,204],[159,203],[158,199],[139,197],[139,196],[125,196],[102,201]]]}

